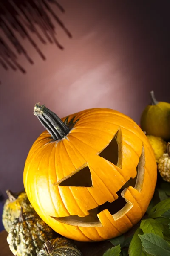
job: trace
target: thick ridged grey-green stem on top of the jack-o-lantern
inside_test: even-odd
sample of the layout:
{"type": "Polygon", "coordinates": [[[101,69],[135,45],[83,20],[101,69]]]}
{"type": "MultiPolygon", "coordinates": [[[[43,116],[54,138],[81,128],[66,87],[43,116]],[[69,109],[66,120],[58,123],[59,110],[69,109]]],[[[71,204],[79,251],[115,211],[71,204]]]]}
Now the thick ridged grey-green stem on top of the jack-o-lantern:
{"type": "Polygon", "coordinates": [[[38,117],[41,124],[51,134],[53,140],[61,140],[71,130],[64,122],[51,110],[37,103],[34,107],[34,115],[38,117]]]}

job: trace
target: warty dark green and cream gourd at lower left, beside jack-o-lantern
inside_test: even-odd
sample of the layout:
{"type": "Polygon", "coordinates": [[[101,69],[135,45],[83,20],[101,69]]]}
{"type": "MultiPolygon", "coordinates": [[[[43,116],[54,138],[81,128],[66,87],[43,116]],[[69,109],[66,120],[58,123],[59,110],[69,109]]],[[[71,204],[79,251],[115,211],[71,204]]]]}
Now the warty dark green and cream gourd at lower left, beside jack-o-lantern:
{"type": "Polygon", "coordinates": [[[45,241],[56,235],[37,213],[20,211],[9,231],[7,242],[14,255],[37,256],[45,241]]]}

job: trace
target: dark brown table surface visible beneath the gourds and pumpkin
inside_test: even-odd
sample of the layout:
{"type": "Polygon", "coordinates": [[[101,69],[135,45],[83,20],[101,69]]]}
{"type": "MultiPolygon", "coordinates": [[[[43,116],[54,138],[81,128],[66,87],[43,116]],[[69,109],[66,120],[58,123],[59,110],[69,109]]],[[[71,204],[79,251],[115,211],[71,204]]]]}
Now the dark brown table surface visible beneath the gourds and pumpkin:
{"type": "MultiPolygon", "coordinates": [[[[8,233],[3,230],[0,232],[0,256],[14,256],[14,254],[9,250],[6,237],[8,233]]],[[[75,242],[77,247],[82,251],[83,256],[102,256],[103,253],[113,246],[108,241],[98,242],[98,243],[81,243],[75,242]]]]}

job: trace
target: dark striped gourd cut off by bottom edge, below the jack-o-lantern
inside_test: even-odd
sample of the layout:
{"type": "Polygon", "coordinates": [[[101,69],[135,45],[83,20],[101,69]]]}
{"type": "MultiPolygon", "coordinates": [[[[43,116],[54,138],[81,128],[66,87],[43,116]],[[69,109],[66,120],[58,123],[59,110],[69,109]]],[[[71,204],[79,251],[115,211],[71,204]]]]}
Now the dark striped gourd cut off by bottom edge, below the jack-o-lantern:
{"type": "Polygon", "coordinates": [[[82,256],[77,246],[66,238],[46,241],[37,256],[82,256]]]}

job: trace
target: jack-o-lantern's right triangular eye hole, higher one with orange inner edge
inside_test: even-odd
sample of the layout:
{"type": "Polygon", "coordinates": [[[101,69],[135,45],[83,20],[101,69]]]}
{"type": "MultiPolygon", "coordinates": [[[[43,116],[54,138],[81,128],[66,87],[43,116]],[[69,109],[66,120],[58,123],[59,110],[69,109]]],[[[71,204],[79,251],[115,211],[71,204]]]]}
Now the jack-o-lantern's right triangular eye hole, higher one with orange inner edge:
{"type": "Polygon", "coordinates": [[[113,137],[111,142],[107,145],[106,148],[99,153],[100,157],[105,158],[109,162],[121,167],[122,156],[120,146],[122,145],[122,134],[121,131],[118,131],[113,137]],[[119,143],[118,143],[119,142],[119,143]],[[120,152],[120,153],[119,153],[120,152]]]}

